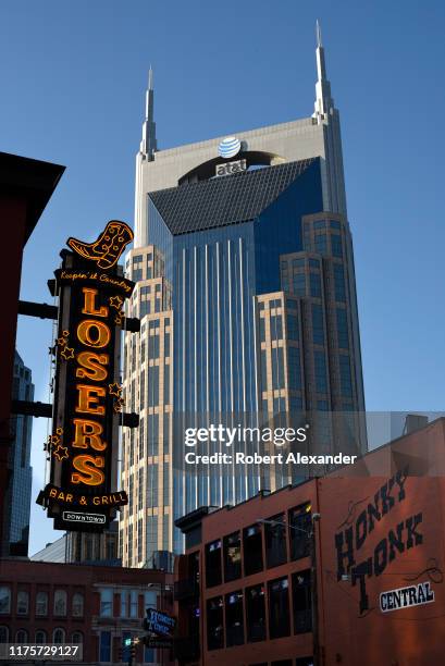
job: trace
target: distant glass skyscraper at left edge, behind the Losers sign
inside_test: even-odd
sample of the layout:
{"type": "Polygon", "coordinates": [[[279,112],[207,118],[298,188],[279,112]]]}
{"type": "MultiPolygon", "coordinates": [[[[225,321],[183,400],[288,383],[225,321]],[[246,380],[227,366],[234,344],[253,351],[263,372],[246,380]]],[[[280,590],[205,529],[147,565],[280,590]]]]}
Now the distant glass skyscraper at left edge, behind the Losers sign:
{"type": "MultiPolygon", "coordinates": [[[[29,368],[15,351],[12,397],[15,400],[34,398],[34,384],[29,368]]],[[[26,557],[28,554],[30,490],[33,468],[30,467],[30,437],[33,418],[12,418],[12,436],[8,460],[8,488],[5,493],[4,533],[1,554],[26,557]]]]}

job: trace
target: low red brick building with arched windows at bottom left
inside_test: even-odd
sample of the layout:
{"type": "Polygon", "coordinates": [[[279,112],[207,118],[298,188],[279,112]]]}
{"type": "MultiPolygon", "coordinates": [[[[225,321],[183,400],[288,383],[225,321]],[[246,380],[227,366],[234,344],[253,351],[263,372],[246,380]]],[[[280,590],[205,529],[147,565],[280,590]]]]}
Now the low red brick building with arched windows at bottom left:
{"type": "MultiPolygon", "coordinates": [[[[84,663],[119,664],[123,639],[146,633],[146,608],[171,612],[172,587],[157,570],[3,559],[0,642],[83,643],[84,663]]],[[[159,663],[172,664],[169,650],[137,645],[134,664],[159,663]]]]}

